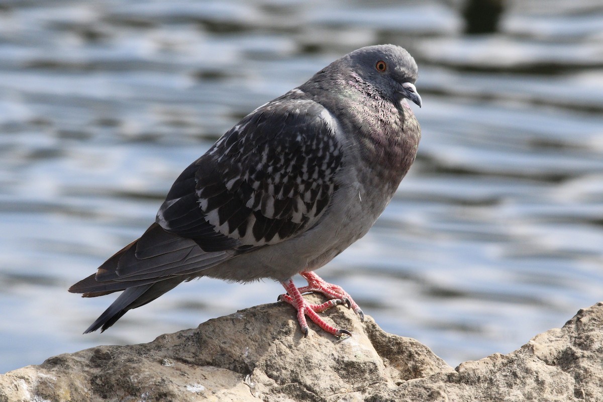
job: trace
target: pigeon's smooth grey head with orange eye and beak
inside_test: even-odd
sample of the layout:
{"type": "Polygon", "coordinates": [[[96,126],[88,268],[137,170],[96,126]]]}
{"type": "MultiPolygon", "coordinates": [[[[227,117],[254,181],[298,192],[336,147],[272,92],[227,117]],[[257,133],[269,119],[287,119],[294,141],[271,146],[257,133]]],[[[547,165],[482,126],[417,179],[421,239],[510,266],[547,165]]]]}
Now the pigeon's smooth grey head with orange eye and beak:
{"type": "Polygon", "coordinates": [[[421,96],[414,86],[417,63],[406,49],[394,45],[367,46],[338,61],[353,78],[370,84],[387,98],[397,102],[406,98],[421,107],[421,96]]]}

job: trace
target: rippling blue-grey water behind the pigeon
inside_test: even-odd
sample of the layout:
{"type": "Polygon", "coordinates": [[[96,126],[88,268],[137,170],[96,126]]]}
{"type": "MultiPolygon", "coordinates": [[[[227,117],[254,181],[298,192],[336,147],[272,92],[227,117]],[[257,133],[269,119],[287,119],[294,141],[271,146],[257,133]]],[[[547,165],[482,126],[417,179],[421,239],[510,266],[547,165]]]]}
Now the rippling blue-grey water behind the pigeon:
{"type": "Polygon", "coordinates": [[[66,289],[239,118],[376,43],[417,59],[423,140],[320,274],[452,366],[602,300],[603,5],[508,3],[499,33],[466,36],[437,1],[1,2],[0,372],[276,300],[203,278],[84,336],[112,299],[66,289]]]}

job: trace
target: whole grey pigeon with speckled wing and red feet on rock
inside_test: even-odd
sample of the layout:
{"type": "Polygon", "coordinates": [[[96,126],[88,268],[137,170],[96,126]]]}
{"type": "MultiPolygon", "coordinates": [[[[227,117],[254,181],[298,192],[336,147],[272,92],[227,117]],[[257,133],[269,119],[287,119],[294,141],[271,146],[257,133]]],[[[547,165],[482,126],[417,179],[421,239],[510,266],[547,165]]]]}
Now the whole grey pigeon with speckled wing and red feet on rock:
{"type": "Polygon", "coordinates": [[[245,116],[180,174],[156,221],[69,291],[123,291],[84,333],[101,332],[183,281],[271,278],[279,300],[336,337],[350,331],[318,313],[346,304],[341,287],[314,273],[364,236],[417,154],[417,63],[400,46],[367,46],[245,116]],[[308,286],[296,287],[300,274],[308,286]],[[310,304],[302,294],[328,299],[310,304]]]}

